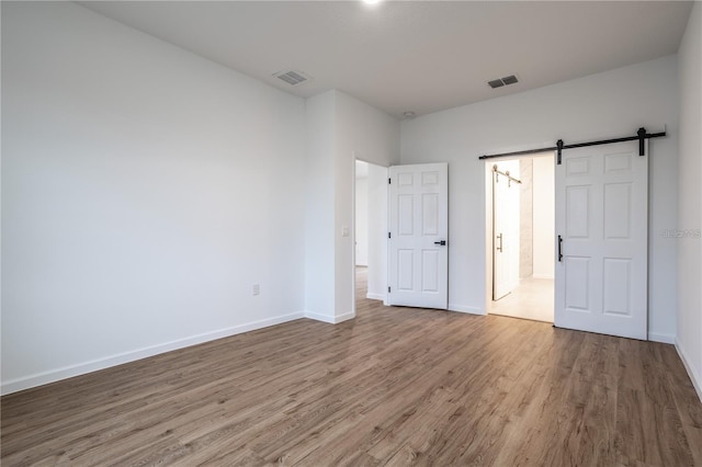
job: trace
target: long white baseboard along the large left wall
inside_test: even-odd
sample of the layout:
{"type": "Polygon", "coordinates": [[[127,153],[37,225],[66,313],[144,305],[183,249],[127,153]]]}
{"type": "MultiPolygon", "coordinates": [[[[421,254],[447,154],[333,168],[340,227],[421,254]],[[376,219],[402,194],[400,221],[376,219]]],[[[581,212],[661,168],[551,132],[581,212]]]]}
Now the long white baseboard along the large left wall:
{"type": "Polygon", "coordinates": [[[120,354],[106,356],[103,358],[97,358],[89,362],[79,363],[76,365],[64,366],[61,368],[52,369],[48,372],[42,372],[31,376],[25,376],[22,378],[11,379],[9,381],[2,383],[2,385],[0,386],[0,394],[4,396],[7,394],[30,389],[33,387],[46,385],[48,383],[55,383],[61,379],[72,378],[73,376],[80,376],[87,373],[110,368],[111,366],[122,365],[123,363],[135,362],[137,360],[174,351],[178,349],[184,349],[191,345],[201,344],[203,342],[210,342],[210,341],[214,341],[222,338],[228,338],[230,335],[241,334],[244,332],[249,332],[249,331],[253,331],[261,328],[268,328],[270,326],[280,324],[283,322],[301,319],[304,317],[305,317],[305,314],[302,311],[290,314],[290,315],[282,315],[274,318],[268,318],[268,319],[262,319],[260,321],[249,322],[246,324],[234,326],[231,328],[225,328],[225,329],[219,329],[212,332],[191,335],[189,338],[178,339],[176,341],[165,342],[162,344],[137,349],[135,351],[123,352],[120,354]]]}

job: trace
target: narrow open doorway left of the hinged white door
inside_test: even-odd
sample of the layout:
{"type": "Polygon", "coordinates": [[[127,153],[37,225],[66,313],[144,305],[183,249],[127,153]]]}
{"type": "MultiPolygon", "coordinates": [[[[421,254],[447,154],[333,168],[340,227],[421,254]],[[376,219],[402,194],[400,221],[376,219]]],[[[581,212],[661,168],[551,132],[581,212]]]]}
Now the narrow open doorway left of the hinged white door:
{"type": "Polygon", "coordinates": [[[354,267],[356,311],[387,291],[387,168],[355,161],[354,267]]]}

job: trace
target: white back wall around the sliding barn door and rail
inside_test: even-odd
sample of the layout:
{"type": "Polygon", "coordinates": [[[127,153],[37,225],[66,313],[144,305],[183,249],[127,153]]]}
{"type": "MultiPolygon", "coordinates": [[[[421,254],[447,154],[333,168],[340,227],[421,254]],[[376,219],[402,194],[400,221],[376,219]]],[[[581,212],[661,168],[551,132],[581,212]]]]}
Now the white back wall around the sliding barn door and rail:
{"type": "Polygon", "coordinates": [[[449,162],[452,309],[485,314],[485,162],[478,156],[634,135],[667,125],[652,141],[649,332],[676,332],[676,246],[659,231],[676,225],[677,59],[668,56],[519,94],[403,122],[401,162],[449,162]]]}

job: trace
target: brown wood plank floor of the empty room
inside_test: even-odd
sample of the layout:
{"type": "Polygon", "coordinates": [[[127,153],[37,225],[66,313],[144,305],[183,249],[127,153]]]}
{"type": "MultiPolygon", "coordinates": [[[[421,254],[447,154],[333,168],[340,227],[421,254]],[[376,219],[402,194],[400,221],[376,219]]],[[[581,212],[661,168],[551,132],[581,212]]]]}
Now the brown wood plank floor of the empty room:
{"type": "Polygon", "coordinates": [[[702,466],[671,345],[365,298],[9,395],[1,418],[3,466],[702,466]]]}

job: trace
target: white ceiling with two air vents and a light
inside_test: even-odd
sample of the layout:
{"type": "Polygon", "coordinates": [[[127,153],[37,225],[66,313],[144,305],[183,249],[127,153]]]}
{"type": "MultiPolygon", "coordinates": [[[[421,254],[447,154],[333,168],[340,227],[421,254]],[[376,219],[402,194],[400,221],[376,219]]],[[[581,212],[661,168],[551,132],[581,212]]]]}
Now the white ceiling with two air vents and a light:
{"type": "Polygon", "coordinates": [[[109,18],[301,96],[401,117],[675,54],[680,1],[94,1],[109,18]],[[272,75],[314,79],[291,87],[272,75]],[[486,82],[517,75],[520,82],[486,82]]]}

